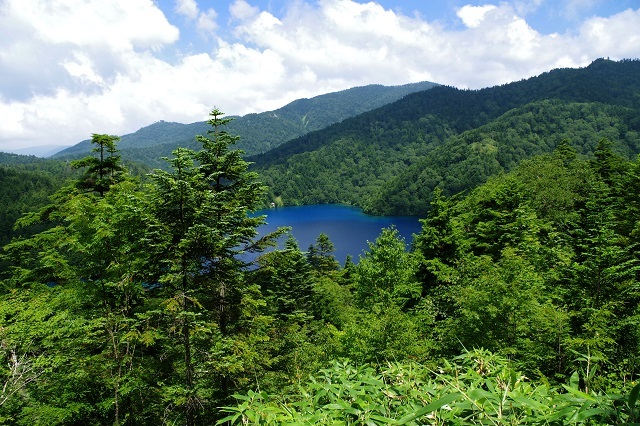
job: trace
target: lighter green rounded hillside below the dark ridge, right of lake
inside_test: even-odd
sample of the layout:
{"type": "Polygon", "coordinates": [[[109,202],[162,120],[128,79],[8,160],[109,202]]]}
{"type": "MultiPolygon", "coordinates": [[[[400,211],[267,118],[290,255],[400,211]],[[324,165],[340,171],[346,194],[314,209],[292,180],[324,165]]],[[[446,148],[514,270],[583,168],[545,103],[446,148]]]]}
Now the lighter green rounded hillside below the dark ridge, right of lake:
{"type": "Polygon", "coordinates": [[[563,140],[589,157],[606,138],[614,142],[617,153],[631,158],[640,152],[637,112],[596,102],[532,102],[449,138],[381,185],[367,208],[379,214],[424,214],[433,188],[447,195],[473,188],[523,159],[553,151],[563,140]]]}

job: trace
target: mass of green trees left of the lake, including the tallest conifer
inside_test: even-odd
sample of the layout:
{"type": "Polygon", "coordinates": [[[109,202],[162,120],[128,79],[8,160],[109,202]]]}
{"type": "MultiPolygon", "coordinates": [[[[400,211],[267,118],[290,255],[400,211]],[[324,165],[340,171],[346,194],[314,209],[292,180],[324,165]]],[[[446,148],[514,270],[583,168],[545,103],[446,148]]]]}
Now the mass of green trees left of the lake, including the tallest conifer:
{"type": "Polygon", "coordinates": [[[244,280],[239,255],[263,250],[277,233],[255,238],[264,218],[248,212],[262,187],[229,149],[235,139],[220,128],[221,113],[212,114],[203,150],[178,150],[175,172],[158,172],[144,192],[117,175],[107,138],[99,149],[108,155],[83,163],[90,167],[80,187],[59,190],[19,221],[48,229],[5,247],[11,266],[0,308],[28,315],[8,312],[2,327],[7,336],[30,339],[22,329],[49,324],[51,309],[69,324],[62,335],[34,337],[46,343],[34,344],[33,355],[15,346],[15,337],[7,341],[7,408],[0,410],[6,419],[195,424],[214,401],[269,365],[258,354],[273,320],[263,314],[257,287],[244,280]],[[16,292],[25,297],[21,303],[16,292]],[[41,294],[74,303],[54,297],[49,309],[38,304],[41,294]],[[224,356],[216,357],[220,350],[224,356]],[[49,357],[63,357],[63,366],[31,366],[49,357]]]}

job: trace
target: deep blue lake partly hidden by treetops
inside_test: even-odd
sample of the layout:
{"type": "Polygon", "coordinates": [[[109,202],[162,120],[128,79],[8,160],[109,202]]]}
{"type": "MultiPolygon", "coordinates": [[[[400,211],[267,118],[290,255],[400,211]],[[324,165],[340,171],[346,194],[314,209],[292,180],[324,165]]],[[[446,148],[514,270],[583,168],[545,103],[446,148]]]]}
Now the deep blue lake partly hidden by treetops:
{"type": "Polygon", "coordinates": [[[315,244],[320,233],[327,234],[336,248],[334,255],[342,264],[349,254],[357,263],[359,256],[369,248],[367,241],[375,241],[383,228],[395,226],[407,244],[421,228],[417,217],[369,216],[357,207],[339,204],[279,207],[260,210],[256,214],[267,215],[267,224],[258,228],[260,234],[290,226],[302,251],[315,244]]]}

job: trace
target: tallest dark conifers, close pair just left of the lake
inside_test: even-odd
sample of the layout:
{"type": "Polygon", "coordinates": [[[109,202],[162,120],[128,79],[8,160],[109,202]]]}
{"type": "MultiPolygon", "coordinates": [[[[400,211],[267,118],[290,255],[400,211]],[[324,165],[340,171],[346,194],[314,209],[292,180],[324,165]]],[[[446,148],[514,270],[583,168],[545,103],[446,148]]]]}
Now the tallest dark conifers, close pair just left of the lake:
{"type": "Polygon", "coordinates": [[[150,268],[173,330],[169,338],[182,348],[182,361],[175,361],[183,372],[182,385],[168,392],[183,408],[188,426],[195,424],[204,393],[211,391],[199,387],[198,366],[206,360],[194,358],[194,345],[201,345],[197,353],[202,356],[209,344],[202,336],[233,332],[247,290],[243,256],[262,251],[279,234],[256,239],[264,216],[248,213],[258,207],[265,189],[248,171],[242,152],[231,149],[237,137],[224,130],[230,120],[222,115],[217,109],[211,112],[212,129],[197,137],[201,151],[179,148],[168,160],[171,171],[151,175],[157,222],[150,228],[150,268]]]}

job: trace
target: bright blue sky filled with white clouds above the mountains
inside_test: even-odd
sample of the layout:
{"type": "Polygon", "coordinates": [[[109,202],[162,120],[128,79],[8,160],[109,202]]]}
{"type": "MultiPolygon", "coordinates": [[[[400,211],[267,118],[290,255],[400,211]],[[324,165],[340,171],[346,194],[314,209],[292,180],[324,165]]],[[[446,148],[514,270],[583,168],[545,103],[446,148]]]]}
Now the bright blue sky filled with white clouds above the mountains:
{"type": "Polygon", "coordinates": [[[0,0],[0,151],[640,57],[640,0],[0,0]]]}

